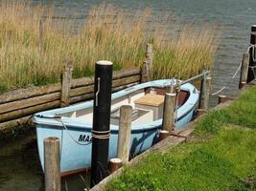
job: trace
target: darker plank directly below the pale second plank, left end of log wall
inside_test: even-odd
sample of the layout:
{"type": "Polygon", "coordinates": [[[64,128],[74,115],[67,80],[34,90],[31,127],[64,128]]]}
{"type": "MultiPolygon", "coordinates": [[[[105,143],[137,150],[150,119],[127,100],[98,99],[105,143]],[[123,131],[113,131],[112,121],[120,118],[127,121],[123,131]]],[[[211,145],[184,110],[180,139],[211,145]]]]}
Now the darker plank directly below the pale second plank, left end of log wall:
{"type": "Polygon", "coordinates": [[[34,107],[29,107],[25,109],[16,110],[10,113],[2,114],[0,116],[0,122],[5,122],[5,121],[12,120],[19,117],[26,117],[29,115],[33,115],[37,112],[57,108],[59,107],[59,102],[60,102],[59,100],[56,100],[56,101],[36,105],[34,107]]]}

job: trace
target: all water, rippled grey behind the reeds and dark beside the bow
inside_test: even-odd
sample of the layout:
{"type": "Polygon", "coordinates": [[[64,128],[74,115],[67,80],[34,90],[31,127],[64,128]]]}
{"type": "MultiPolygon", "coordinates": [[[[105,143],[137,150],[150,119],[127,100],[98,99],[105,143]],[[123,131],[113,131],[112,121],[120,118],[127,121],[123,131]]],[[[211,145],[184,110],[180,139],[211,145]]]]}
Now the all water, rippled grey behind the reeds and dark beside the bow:
{"type": "MultiPolygon", "coordinates": [[[[249,44],[250,26],[256,24],[255,0],[33,0],[32,2],[35,5],[47,6],[54,2],[56,9],[64,17],[73,18],[75,26],[81,23],[92,6],[103,2],[127,10],[150,7],[153,12],[170,11],[178,16],[181,23],[195,25],[201,22],[215,23],[217,30],[221,32],[221,43],[213,69],[213,92],[228,86],[222,92],[227,96],[237,94],[238,75],[234,79],[231,79],[231,76],[239,67],[242,54],[249,44]]],[[[214,103],[215,99],[212,99],[212,102],[214,103]]],[[[35,133],[29,132],[21,138],[14,138],[10,142],[1,144],[0,190],[43,190],[35,141],[35,133]]],[[[72,191],[83,190],[86,175],[81,176],[62,180],[63,190],[66,190],[66,187],[72,191]]]]}

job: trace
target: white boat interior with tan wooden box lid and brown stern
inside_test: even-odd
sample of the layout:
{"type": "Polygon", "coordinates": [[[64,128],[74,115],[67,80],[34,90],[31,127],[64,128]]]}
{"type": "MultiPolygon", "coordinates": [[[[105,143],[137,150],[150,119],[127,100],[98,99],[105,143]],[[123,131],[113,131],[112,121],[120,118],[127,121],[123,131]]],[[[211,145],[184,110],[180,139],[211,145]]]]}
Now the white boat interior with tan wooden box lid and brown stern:
{"type": "MultiPolygon", "coordinates": [[[[132,106],[132,124],[138,125],[152,122],[163,117],[164,97],[166,89],[159,87],[145,88],[126,96],[112,99],[110,124],[118,125],[122,105],[132,106]]],[[[189,92],[181,90],[177,93],[177,107],[182,106],[189,97],[189,92]]],[[[87,122],[93,120],[93,108],[60,114],[61,117],[78,118],[87,122]]]]}

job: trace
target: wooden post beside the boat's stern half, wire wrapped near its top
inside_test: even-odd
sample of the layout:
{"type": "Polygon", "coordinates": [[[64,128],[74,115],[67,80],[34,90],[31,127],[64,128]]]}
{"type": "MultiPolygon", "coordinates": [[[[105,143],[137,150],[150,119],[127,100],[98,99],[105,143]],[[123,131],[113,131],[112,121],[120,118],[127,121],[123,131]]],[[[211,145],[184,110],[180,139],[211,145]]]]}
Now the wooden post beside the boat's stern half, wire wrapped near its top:
{"type": "Polygon", "coordinates": [[[163,113],[163,130],[170,133],[174,132],[174,118],[175,118],[175,86],[167,88],[170,92],[166,92],[164,101],[164,113],[163,113]]]}

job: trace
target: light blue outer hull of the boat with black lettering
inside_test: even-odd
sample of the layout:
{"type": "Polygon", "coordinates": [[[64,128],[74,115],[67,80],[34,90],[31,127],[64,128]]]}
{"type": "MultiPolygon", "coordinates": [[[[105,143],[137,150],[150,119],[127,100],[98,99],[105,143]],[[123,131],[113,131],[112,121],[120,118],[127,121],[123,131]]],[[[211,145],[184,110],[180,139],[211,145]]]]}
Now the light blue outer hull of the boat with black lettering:
{"type": "MultiPolygon", "coordinates": [[[[176,129],[182,129],[189,123],[194,115],[198,104],[198,95],[186,112],[177,117],[176,129]]],[[[178,110],[180,110],[179,108],[178,110]]],[[[58,109],[60,110],[60,109],[58,109]]],[[[55,111],[58,111],[55,110],[55,111]]],[[[55,112],[56,113],[56,112],[55,112]]],[[[39,114],[40,116],[45,114],[39,114]]],[[[54,119],[58,121],[58,119],[54,119]]],[[[63,119],[60,124],[52,122],[53,119],[41,119],[35,116],[37,146],[39,158],[44,166],[43,139],[57,137],[60,142],[60,171],[61,174],[79,172],[91,165],[91,123],[73,124],[68,119],[63,119]],[[64,127],[63,127],[64,126],[64,127]]],[[[131,126],[130,156],[137,155],[149,149],[157,140],[158,132],[161,129],[162,119],[155,120],[149,124],[131,126]]],[[[110,125],[109,152],[108,158],[117,157],[118,127],[110,125]]]]}

